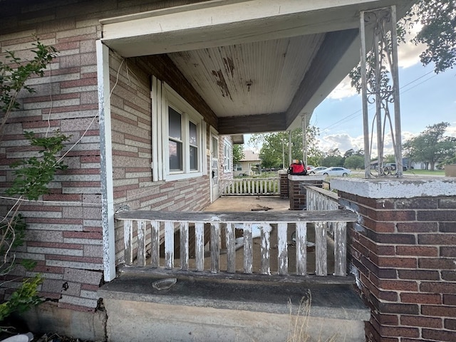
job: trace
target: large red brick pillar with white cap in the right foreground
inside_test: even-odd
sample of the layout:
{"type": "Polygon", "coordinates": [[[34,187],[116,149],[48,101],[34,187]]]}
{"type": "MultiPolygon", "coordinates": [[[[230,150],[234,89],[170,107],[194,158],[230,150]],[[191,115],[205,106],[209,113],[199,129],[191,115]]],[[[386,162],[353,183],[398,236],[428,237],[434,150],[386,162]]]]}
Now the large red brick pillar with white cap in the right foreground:
{"type": "Polygon", "coordinates": [[[333,180],[358,212],[348,253],[366,341],[456,341],[456,180],[333,180]]]}

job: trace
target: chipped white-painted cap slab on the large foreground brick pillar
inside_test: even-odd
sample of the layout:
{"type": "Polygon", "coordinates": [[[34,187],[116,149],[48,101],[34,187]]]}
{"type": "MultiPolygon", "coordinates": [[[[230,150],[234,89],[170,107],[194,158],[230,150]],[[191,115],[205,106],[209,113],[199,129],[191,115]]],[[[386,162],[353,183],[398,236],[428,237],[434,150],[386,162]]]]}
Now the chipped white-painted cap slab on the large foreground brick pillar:
{"type": "Polygon", "coordinates": [[[379,199],[456,196],[456,179],[454,177],[420,177],[420,179],[405,177],[369,180],[334,178],[331,180],[331,187],[349,194],[379,199]]]}

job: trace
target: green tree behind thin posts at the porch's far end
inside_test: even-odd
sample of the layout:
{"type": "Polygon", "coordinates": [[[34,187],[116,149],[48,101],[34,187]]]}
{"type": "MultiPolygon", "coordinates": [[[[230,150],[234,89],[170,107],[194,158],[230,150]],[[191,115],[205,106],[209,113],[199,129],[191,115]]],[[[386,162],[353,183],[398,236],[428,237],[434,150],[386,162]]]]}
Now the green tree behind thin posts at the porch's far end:
{"type": "MultiPolygon", "coordinates": [[[[318,149],[318,128],[307,128],[307,162],[309,165],[318,165],[322,152],[318,149]]],[[[302,130],[298,128],[291,131],[291,159],[303,158],[302,130]]],[[[262,167],[286,167],[289,161],[289,133],[276,132],[254,134],[249,142],[261,146],[259,157],[262,167]],[[285,163],[285,165],[283,165],[285,163]]]]}

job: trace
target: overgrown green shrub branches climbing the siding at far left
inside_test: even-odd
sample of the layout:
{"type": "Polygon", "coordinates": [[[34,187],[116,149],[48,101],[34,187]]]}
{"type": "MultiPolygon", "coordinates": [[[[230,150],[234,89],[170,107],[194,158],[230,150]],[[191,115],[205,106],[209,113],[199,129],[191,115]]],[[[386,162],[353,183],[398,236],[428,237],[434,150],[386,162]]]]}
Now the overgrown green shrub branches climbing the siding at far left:
{"type": "MultiPolygon", "coordinates": [[[[56,57],[56,48],[46,46],[36,39],[32,61],[22,61],[12,51],[7,51],[4,61],[0,61],[0,142],[11,113],[20,108],[18,95],[22,90],[33,93],[35,90],[27,85],[29,78],[44,76],[49,63],[56,57]]],[[[14,204],[7,208],[4,217],[0,218],[0,276],[8,275],[18,266],[16,262],[16,248],[24,243],[26,221],[19,212],[24,199],[36,200],[49,192],[48,184],[53,180],[57,170],[63,170],[66,165],[57,160],[63,149],[63,142],[68,140],[66,135],[56,131],[53,136],[38,137],[33,132],[24,133],[36,155],[28,159],[18,160],[10,166],[14,168],[14,180],[6,195],[14,197],[14,204]]],[[[36,263],[30,260],[21,260],[21,266],[31,270],[36,263]]],[[[11,277],[9,277],[11,279],[11,277]]],[[[31,306],[41,302],[38,296],[38,285],[41,284],[41,275],[25,279],[19,289],[16,289],[7,301],[0,304],[0,321],[15,311],[23,312],[31,306]]],[[[4,281],[1,286],[6,286],[4,281]]]]}

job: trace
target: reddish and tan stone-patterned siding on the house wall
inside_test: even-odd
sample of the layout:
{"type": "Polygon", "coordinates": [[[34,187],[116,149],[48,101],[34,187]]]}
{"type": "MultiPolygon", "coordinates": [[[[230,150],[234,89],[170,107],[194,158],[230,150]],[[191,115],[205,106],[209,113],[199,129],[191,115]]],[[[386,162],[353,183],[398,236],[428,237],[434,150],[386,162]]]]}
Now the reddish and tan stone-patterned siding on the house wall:
{"type": "MultiPolygon", "coordinates": [[[[26,242],[17,257],[37,262],[33,271],[21,266],[6,276],[13,287],[22,276],[43,274],[41,294],[61,308],[93,311],[103,282],[101,220],[100,127],[95,40],[101,37],[99,19],[150,11],[199,1],[2,1],[0,48],[33,58],[35,33],[59,53],[43,78],[29,84],[36,93],[21,93],[20,108],[12,113],[0,145],[1,192],[13,180],[8,165],[30,152],[22,133],[42,135],[53,130],[69,135],[63,153],[68,169],[58,172],[50,194],[26,202],[26,242]],[[18,279],[19,276],[19,279],[18,279]]],[[[2,58],[0,56],[0,58],[2,58]]],[[[153,182],[151,162],[150,75],[172,81],[177,92],[217,128],[217,118],[177,77],[164,56],[123,60],[110,51],[113,187],[115,209],[199,210],[209,203],[209,177],[176,182],[153,182]],[[155,72],[154,72],[155,71],[155,72]]],[[[62,153],[62,155],[63,155],[62,153]]],[[[0,199],[0,214],[13,200],[0,199]]],[[[123,260],[123,229],[115,232],[116,264],[123,260]]],[[[1,290],[4,291],[4,290],[1,290]]],[[[10,291],[0,296],[9,296],[10,291]]]]}

